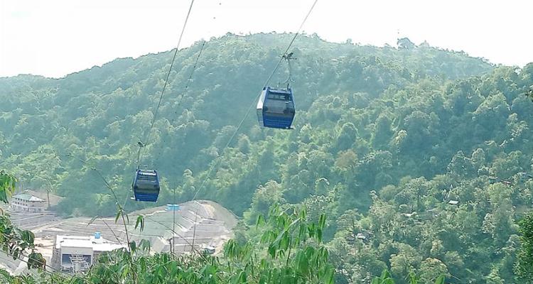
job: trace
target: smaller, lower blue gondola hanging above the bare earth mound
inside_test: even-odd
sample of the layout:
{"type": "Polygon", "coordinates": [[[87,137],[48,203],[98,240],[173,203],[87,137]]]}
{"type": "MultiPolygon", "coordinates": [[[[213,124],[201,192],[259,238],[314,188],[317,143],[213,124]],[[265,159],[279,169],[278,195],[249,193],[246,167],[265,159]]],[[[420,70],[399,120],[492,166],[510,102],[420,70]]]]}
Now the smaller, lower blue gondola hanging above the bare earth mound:
{"type": "Polygon", "coordinates": [[[159,178],[156,170],[137,169],[133,182],[136,201],[156,202],[159,196],[159,178]]]}

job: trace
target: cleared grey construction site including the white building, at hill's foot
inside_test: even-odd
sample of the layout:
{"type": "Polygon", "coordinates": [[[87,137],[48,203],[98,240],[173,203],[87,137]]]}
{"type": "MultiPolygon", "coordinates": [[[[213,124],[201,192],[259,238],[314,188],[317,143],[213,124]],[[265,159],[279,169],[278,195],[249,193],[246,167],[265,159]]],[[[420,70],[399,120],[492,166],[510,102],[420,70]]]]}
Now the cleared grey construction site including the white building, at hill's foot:
{"type": "MultiPolygon", "coordinates": [[[[103,251],[125,248],[126,229],[130,241],[146,239],[151,253],[220,253],[225,241],[232,238],[237,217],[216,202],[196,200],[171,206],[131,212],[129,224],[114,217],[76,217],[62,219],[53,212],[20,212],[5,208],[20,229],[35,234],[36,250],[48,265],[74,272],[87,270],[103,251]],[[144,228],[135,228],[135,220],[144,216],[144,228]]],[[[24,260],[24,259],[23,259],[24,260]]],[[[26,263],[0,252],[0,267],[18,275],[26,263]]]]}

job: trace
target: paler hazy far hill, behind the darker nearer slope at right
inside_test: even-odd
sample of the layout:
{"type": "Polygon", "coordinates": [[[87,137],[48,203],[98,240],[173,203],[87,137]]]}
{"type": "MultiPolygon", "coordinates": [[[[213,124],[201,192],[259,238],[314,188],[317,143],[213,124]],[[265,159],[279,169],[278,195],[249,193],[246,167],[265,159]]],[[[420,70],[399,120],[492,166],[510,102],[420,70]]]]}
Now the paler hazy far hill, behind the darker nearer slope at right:
{"type": "MultiPolygon", "coordinates": [[[[161,171],[167,191],[180,187],[178,192],[183,195],[182,200],[187,199],[185,181],[188,177],[203,178],[203,170],[222,154],[219,151],[250,104],[254,103],[289,36],[227,35],[210,40],[187,90],[184,86],[200,44],[178,53],[177,67],[171,73],[171,82],[150,135],[146,155],[149,158],[144,161],[161,171]],[[185,97],[181,105],[175,107],[182,95],[185,97]]],[[[341,109],[362,109],[384,92],[407,91],[413,82],[444,82],[442,78],[468,77],[492,68],[482,60],[435,48],[419,48],[414,53],[394,48],[327,43],[317,37],[299,38],[294,51],[299,57],[294,67],[297,131],[260,130],[252,114],[244,121],[239,138],[230,145],[227,157],[239,158],[232,151],[242,153],[248,147],[244,151],[249,153],[244,154],[249,155],[249,163],[254,163],[265,149],[268,137],[291,136],[296,143],[300,140],[297,134],[309,131],[310,127],[340,130],[343,126],[340,123],[349,117],[341,118],[335,114],[330,114],[329,119],[317,117],[331,107],[338,108],[338,112],[341,109]],[[416,62],[418,65],[410,71],[407,67],[416,62]],[[393,88],[398,91],[392,91],[393,88]]],[[[87,202],[75,204],[80,194],[97,197],[107,194],[107,190],[75,159],[58,159],[54,155],[70,153],[89,160],[126,190],[136,166],[136,141],[143,138],[146,124],[153,116],[169,58],[169,53],[159,53],[136,60],[119,59],[59,80],[28,75],[1,79],[3,124],[0,130],[2,141],[5,141],[2,143],[1,165],[15,166],[14,174],[27,185],[46,187],[51,183],[59,195],[67,197],[60,208],[67,214],[74,209],[79,209],[82,214],[94,214],[109,207],[101,199],[95,200],[100,202],[97,207],[87,202]]],[[[283,81],[284,73],[286,70],[281,68],[272,82],[283,81]]],[[[355,121],[349,122],[353,124],[355,121]]],[[[291,152],[297,152],[294,150],[291,152]]],[[[228,168],[239,170],[230,167],[231,159],[224,160],[227,165],[217,169],[209,189],[201,192],[204,197],[219,199],[215,196],[222,192],[213,190],[213,182],[222,182],[222,175],[228,168]]],[[[239,182],[249,180],[242,176],[245,174],[240,173],[239,182]]],[[[254,187],[274,176],[279,173],[269,174],[267,170],[257,175],[259,180],[254,180],[254,184],[237,187],[253,192],[254,187]]],[[[227,180],[233,185],[235,181],[227,180]]],[[[249,206],[250,194],[244,203],[239,207],[232,206],[232,209],[242,213],[249,206]]],[[[168,201],[165,196],[161,198],[161,203],[168,201]]]]}

